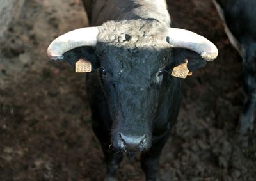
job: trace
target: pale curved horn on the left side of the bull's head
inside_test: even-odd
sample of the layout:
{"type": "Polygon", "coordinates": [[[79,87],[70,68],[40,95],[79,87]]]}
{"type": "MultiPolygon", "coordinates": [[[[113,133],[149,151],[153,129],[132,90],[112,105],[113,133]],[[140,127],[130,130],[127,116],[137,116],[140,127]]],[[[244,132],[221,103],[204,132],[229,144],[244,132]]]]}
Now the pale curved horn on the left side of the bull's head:
{"type": "Polygon", "coordinates": [[[82,46],[95,46],[98,33],[97,27],[69,31],[52,41],[47,49],[47,54],[53,61],[62,61],[63,54],[71,49],[82,46]]]}

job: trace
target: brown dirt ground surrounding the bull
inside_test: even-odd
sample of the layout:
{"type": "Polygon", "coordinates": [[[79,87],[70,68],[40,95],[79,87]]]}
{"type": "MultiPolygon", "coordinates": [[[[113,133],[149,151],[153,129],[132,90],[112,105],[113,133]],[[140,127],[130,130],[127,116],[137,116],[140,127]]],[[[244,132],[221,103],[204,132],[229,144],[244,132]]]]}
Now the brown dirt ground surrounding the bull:
{"type": "MultiPolygon", "coordinates": [[[[164,147],[164,181],[256,180],[256,131],[237,134],[243,103],[241,58],[211,1],[168,1],[173,26],[200,33],[216,61],[185,80],[177,125],[164,147]],[[172,5],[171,5],[172,4],[172,5]]],[[[102,150],[90,127],[84,74],[46,56],[58,35],[86,26],[79,0],[26,0],[0,45],[0,180],[103,180],[102,150]]],[[[119,180],[143,180],[124,159],[119,180]]]]}

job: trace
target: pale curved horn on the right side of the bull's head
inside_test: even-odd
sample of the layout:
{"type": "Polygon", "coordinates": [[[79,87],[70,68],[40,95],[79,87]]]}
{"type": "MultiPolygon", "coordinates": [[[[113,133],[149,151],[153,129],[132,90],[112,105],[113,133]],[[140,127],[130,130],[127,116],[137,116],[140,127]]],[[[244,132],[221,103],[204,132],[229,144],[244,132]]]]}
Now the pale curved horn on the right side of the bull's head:
{"type": "Polygon", "coordinates": [[[212,42],[201,35],[185,29],[169,28],[168,43],[172,47],[195,51],[206,61],[212,61],[218,56],[218,49],[212,42]]]}

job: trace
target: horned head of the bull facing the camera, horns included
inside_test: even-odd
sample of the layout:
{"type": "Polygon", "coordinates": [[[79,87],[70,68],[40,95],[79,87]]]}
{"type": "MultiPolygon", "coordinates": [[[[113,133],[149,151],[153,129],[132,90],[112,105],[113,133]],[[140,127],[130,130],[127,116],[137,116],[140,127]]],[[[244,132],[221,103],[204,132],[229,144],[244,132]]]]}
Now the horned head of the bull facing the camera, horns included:
{"type": "Polygon", "coordinates": [[[95,47],[97,58],[87,59],[102,72],[102,87],[113,120],[113,146],[129,152],[150,148],[157,109],[163,95],[171,91],[164,83],[170,69],[189,59],[193,70],[218,55],[216,47],[204,37],[166,28],[156,20],[106,22],[99,27],[76,29],[56,38],[49,45],[48,55],[62,61],[65,52],[84,46],[95,47]],[[187,52],[175,52],[175,48],[187,52]]]}

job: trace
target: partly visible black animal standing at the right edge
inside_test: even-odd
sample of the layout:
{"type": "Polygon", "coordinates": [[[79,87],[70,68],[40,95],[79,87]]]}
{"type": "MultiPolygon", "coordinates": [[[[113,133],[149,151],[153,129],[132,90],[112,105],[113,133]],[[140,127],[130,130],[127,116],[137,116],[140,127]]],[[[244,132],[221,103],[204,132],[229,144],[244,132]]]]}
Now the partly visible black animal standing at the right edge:
{"type": "Polygon", "coordinates": [[[239,131],[253,130],[256,108],[256,1],[214,1],[232,45],[243,58],[244,104],[239,118],[239,131]]]}

